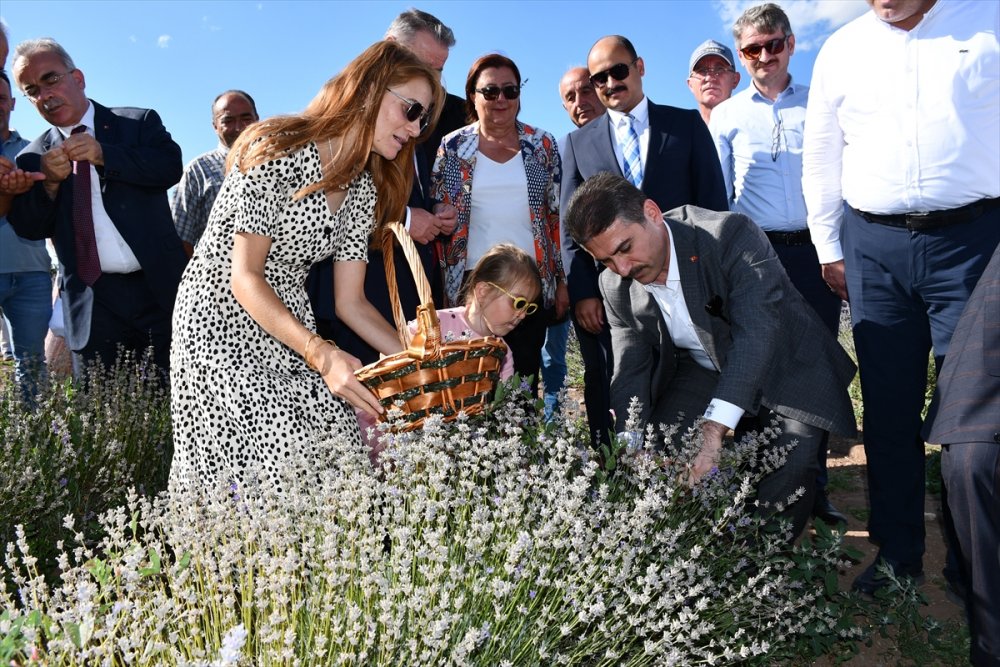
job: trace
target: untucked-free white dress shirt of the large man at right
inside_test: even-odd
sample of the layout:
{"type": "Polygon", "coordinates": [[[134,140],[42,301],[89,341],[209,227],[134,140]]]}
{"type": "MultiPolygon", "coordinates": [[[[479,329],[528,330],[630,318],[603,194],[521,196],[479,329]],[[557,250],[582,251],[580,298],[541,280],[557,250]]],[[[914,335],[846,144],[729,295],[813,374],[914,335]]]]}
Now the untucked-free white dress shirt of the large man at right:
{"type": "Polygon", "coordinates": [[[843,202],[877,214],[1000,196],[1000,3],[938,0],[910,31],[874,12],[813,67],[803,193],[821,263],[843,259],[843,202]]]}

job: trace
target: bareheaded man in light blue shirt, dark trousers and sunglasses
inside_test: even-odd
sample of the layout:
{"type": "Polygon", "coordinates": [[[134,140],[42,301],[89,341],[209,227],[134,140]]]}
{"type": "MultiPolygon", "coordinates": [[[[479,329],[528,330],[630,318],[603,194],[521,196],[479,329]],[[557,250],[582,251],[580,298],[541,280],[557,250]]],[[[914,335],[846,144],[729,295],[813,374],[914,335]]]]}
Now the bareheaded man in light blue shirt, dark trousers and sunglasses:
{"type": "MultiPolygon", "coordinates": [[[[730,210],[764,230],[792,284],[836,338],[840,297],[823,282],[806,227],[802,126],[809,88],[793,82],[788,73],[795,35],[785,12],[767,3],[743,12],[733,25],[733,38],[751,85],[716,107],[709,123],[730,210]]],[[[813,516],[829,524],[846,523],[826,495],[826,454],[824,440],[813,516]]]]}

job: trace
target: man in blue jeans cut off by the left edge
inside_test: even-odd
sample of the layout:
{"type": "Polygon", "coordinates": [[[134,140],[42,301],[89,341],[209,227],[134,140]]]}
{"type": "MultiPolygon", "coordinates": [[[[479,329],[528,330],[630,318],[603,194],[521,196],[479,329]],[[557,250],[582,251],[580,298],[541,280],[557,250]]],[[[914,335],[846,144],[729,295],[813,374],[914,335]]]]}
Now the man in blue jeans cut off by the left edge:
{"type": "MultiPolygon", "coordinates": [[[[0,143],[3,159],[0,174],[15,170],[14,158],[28,145],[17,130],[10,129],[14,96],[10,79],[0,72],[0,143]]],[[[0,186],[0,195],[13,195],[0,186]]],[[[0,216],[5,216],[10,200],[3,197],[0,216]]],[[[27,241],[14,233],[6,217],[0,217],[0,308],[10,328],[14,353],[14,375],[22,396],[30,399],[38,382],[45,377],[45,335],[52,316],[52,261],[45,241],[27,241]]]]}

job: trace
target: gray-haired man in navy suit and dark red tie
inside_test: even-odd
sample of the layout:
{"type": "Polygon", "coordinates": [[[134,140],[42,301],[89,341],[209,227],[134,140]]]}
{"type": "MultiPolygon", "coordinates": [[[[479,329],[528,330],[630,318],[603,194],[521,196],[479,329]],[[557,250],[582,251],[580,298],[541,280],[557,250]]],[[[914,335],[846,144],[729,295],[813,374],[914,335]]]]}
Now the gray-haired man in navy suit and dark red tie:
{"type": "Polygon", "coordinates": [[[155,111],[87,99],[83,72],[54,40],[19,44],[13,71],[53,127],[17,158],[18,168],[45,180],[14,199],[8,221],[24,238],[55,244],[70,349],[84,363],[110,365],[119,346],[137,355],[152,346],[166,369],[186,261],[167,202],[183,170],[180,147],[155,111]],[[88,204],[83,223],[74,208],[88,204]]]}

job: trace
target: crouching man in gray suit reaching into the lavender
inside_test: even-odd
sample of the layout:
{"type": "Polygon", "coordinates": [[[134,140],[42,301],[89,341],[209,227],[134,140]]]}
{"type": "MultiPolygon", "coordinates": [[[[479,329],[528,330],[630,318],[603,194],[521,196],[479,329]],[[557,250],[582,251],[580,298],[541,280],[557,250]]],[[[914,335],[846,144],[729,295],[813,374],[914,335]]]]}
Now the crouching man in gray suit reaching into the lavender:
{"type": "Polygon", "coordinates": [[[855,367],[788,280],[749,218],[682,206],[664,215],[625,179],[598,174],[564,212],[573,239],[610,271],[601,292],[611,325],[611,406],[624,428],[632,397],[643,424],[702,422],[693,464],[719,461],[722,438],[777,420],[772,446],[798,445],[757,496],[785,504],[794,535],[813,505],[824,432],[856,432],[847,386],[855,367]]]}

